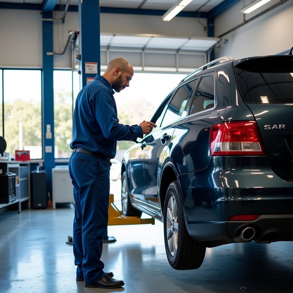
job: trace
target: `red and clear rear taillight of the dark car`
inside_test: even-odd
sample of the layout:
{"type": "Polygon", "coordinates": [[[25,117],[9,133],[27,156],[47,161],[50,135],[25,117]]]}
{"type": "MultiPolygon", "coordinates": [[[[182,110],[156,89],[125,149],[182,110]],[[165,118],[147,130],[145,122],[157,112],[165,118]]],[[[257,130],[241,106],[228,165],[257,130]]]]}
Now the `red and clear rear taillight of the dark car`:
{"type": "Polygon", "coordinates": [[[209,145],[211,156],[265,155],[255,121],[228,121],[212,125],[209,145]]]}

